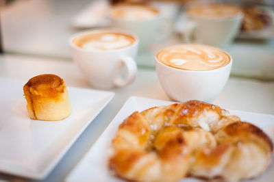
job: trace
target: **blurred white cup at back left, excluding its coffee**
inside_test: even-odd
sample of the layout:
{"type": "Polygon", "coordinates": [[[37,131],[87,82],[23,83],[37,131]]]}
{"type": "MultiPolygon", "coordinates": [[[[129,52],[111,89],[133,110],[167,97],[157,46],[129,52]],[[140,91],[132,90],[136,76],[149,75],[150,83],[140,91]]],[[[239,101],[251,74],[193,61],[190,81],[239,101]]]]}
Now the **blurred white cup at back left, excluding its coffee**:
{"type": "MultiPolygon", "coordinates": [[[[132,7],[132,5],[130,7],[132,7]]],[[[125,8],[127,8],[127,6],[125,6],[125,8]]],[[[117,9],[118,8],[114,8],[112,12],[117,9]]],[[[155,8],[153,8],[153,10],[158,11],[155,8]]],[[[168,36],[167,31],[169,31],[169,29],[168,27],[164,28],[164,18],[161,16],[159,11],[157,16],[141,20],[117,18],[110,14],[110,20],[112,22],[112,27],[125,29],[138,36],[138,38],[140,39],[140,51],[147,51],[151,42],[164,40],[164,38],[168,36]]]]}

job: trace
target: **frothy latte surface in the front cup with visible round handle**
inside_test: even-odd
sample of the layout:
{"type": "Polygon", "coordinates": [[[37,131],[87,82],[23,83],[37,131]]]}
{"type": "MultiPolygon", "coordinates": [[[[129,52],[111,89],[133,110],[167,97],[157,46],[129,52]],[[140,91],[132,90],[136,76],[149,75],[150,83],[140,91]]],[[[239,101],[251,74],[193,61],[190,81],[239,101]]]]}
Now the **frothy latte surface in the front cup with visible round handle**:
{"type": "Polygon", "coordinates": [[[132,36],[113,32],[91,33],[73,40],[73,44],[82,49],[101,51],[123,49],[134,42],[136,40],[132,36]]]}

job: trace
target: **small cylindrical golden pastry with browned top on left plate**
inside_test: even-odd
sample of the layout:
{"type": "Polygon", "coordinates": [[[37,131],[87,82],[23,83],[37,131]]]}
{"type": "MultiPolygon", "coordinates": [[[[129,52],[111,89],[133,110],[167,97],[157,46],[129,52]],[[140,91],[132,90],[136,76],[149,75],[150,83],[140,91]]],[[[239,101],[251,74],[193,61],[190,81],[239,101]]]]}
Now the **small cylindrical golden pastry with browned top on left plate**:
{"type": "Polygon", "coordinates": [[[57,75],[38,75],[24,88],[27,112],[34,120],[63,120],[71,114],[66,83],[57,75]]]}

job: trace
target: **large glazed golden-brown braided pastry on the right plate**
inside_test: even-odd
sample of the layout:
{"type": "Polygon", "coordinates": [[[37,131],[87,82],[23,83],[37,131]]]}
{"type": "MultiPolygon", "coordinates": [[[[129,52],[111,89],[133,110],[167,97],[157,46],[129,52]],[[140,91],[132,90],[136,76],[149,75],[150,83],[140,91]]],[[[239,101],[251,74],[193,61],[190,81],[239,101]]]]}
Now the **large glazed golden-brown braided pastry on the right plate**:
{"type": "Polygon", "coordinates": [[[110,168],[130,181],[240,181],[264,172],[273,143],[225,109],[188,101],[134,112],[119,126],[112,149],[110,168]]]}

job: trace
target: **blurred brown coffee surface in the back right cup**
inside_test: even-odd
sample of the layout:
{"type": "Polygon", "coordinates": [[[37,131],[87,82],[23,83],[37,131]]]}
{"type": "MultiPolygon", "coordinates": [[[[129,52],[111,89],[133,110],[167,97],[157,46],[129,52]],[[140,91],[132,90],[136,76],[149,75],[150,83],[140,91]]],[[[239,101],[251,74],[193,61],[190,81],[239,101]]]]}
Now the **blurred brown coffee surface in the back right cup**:
{"type": "Polygon", "coordinates": [[[206,18],[228,18],[240,13],[240,8],[228,4],[201,4],[192,5],[186,10],[190,16],[206,18]]]}

